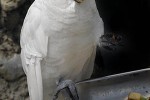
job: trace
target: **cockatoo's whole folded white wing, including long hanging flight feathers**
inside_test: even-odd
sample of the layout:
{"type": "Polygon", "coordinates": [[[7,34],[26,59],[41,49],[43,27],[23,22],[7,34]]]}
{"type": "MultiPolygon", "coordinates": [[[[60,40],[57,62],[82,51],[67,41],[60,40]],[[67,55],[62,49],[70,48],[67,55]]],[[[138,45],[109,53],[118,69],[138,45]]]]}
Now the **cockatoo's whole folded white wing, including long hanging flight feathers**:
{"type": "Polygon", "coordinates": [[[41,10],[33,5],[28,10],[21,31],[21,59],[27,75],[31,100],[42,100],[41,60],[46,55],[48,37],[41,24],[41,10]]]}

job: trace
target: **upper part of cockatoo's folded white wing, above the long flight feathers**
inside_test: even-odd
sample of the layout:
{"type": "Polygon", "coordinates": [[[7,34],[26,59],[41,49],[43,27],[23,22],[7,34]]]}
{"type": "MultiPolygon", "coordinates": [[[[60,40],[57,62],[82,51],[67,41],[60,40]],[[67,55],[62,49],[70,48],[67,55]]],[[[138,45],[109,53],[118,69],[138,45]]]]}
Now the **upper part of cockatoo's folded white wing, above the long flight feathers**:
{"type": "Polygon", "coordinates": [[[48,42],[48,37],[40,27],[41,13],[38,5],[33,3],[24,20],[20,41],[22,49],[27,49],[27,52],[38,57],[46,56],[48,42]]]}

